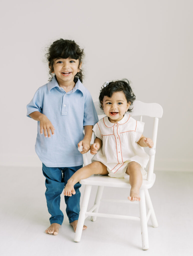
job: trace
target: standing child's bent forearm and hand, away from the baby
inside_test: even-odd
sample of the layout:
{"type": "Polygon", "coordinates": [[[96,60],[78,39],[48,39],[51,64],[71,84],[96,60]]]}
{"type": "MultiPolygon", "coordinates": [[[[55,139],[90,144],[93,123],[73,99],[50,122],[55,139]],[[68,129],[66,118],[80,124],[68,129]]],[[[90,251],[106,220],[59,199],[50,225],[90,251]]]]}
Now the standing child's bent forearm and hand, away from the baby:
{"type": "Polygon", "coordinates": [[[50,122],[50,120],[47,118],[46,115],[40,113],[39,111],[35,111],[29,114],[29,116],[36,121],[40,121],[40,133],[43,134],[43,129],[44,129],[45,137],[47,137],[47,132],[48,132],[48,138],[51,137],[50,130],[52,132],[52,135],[54,134],[55,128],[53,127],[52,123],[50,122]]]}

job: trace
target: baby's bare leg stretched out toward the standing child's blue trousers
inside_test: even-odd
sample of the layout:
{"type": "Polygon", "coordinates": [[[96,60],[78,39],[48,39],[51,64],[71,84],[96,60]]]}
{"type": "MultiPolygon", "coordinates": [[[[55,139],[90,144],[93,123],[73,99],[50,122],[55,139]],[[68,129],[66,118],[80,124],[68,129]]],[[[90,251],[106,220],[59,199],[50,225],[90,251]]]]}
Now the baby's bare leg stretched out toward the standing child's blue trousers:
{"type": "Polygon", "coordinates": [[[77,182],[79,182],[81,179],[86,179],[86,178],[90,177],[92,174],[106,175],[106,174],[108,174],[108,170],[104,164],[102,164],[101,162],[98,162],[98,161],[92,162],[91,164],[88,164],[88,165],[80,168],[68,180],[68,182],[64,188],[64,195],[65,196],[75,195],[76,192],[74,190],[74,185],[77,182]]]}

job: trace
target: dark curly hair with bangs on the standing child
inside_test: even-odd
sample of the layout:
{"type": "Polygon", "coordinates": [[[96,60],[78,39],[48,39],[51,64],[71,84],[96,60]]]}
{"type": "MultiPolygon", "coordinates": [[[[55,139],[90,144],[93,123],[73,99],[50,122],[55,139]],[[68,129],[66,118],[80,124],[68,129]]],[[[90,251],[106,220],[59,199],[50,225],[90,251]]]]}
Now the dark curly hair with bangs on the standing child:
{"type": "MultiPolygon", "coordinates": [[[[72,58],[75,60],[79,60],[79,65],[82,62],[82,58],[84,57],[84,51],[79,47],[79,45],[74,42],[74,40],[64,40],[62,38],[53,42],[50,47],[48,48],[48,53],[45,55],[48,61],[48,65],[50,68],[49,74],[51,77],[49,81],[51,81],[54,72],[53,69],[53,60],[57,58],[67,59],[72,58]]],[[[83,74],[82,69],[75,75],[74,82],[78,81],[78,78],[82,82],[83,74]]]]}

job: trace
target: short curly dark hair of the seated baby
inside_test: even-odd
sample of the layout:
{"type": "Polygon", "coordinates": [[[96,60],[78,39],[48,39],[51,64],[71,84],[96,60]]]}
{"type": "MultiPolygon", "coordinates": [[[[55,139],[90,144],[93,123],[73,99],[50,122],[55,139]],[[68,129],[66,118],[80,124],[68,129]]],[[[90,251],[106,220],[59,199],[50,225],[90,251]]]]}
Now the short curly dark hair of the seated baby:
{"type": "Polygon", "coordinates": [[[99,95],[99,102],[100,108],[103,109],[103,98],[107,96],[109,98],[112,97],[113,92],[120,92],[122,91],[125,94],[127,103],[131,102],[128,112],[131,112],[133,107],[133,101],[135,100],[135,94],[133,93],[131,86],[129,85],[129,81],[127,79],[117,80],[110,82],[106,87],[101,87],[100,95],[99,95]]]}

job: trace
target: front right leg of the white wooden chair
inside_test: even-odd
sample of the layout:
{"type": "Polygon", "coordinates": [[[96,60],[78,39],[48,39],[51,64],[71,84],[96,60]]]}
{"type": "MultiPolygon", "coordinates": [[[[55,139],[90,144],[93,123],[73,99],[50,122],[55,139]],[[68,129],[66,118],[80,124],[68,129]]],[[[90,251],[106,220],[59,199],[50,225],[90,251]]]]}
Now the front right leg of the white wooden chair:
{"type": "Polygon", "coordinates": [[[149,249],[148,243],[148,232],[147,232],[147,216],[146,216],[146,206],[145,206],[145,193],[144,189],[140,189],[139,208],[140,208],[140,223],[141,223],[141,237],[142,237],[142,249],[149,249]]]}

